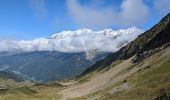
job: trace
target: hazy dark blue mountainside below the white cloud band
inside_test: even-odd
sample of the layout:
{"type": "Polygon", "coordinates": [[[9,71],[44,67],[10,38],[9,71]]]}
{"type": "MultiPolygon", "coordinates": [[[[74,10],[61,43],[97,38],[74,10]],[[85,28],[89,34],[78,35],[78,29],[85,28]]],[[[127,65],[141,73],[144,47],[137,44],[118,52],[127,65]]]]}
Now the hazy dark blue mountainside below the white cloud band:
{"type": "Polygon", "coordinates": [[[0,70],[12,71],[26,79],[44,82],[80,74],[108,53],[29,52],[0,57],[0,70]]]}

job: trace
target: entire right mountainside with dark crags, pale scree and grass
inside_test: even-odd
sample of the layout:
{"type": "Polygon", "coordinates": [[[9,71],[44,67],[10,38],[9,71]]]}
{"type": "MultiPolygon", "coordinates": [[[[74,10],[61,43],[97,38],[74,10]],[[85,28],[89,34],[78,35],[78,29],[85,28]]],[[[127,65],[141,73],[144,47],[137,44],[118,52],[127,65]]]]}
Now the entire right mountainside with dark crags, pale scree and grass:
{"type": "Polygon", "coordinates": [[[168,100],[170,98],[169,19],[170,14],[120,51],[108,55],[85,70],[73,79],[75,82],[61,90],[63,98],[168,100]],[[139,45],[139,49],[136,44],[139,45]]]}

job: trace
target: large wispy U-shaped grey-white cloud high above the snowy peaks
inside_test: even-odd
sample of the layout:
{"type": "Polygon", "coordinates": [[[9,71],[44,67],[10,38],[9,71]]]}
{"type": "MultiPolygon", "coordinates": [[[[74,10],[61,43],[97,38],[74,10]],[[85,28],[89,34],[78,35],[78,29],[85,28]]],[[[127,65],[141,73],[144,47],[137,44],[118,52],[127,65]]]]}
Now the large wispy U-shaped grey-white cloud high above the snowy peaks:
{"type": "Polygon", "coordinates": [[[149,8],[143,0],[123,0],[120,10],[114,7],[95,8],[81,5],[78,0],[67,0],[71,17],[82,27],[132,26],[145,22],[149,8]]]}

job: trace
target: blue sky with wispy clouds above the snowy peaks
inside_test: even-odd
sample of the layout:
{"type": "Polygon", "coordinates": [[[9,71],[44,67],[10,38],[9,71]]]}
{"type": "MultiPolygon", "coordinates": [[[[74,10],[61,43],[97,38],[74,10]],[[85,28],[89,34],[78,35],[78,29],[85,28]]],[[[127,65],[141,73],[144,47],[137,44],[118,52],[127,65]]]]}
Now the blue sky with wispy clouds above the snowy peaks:
{"type": "Polygon", "coordinates": [[[63,30],[151,28],[170,0],[0,0],[0,39],[49,37],[63,30]]]}

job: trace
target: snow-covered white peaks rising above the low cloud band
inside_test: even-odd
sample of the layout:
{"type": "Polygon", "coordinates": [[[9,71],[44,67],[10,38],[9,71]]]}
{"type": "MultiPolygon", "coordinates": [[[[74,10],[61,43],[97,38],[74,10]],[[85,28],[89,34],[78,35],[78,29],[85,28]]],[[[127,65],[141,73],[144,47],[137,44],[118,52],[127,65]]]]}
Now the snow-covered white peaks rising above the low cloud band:
{"type": "Polygon", "coordinates": [[[142,33],[143,31],[141,29],[138,29],[136,27],[131,27],[128,29],[120,29],[117,31],[110,29],[104,29],[101,31],[92,31],[91,29],[79,29],[76,31],[62,31],[60,33],[53,34],[51,36],[51,39],[57,39],[57,38],[72,38],[72,37],[79,37],[80,35],[86,36],[86,35],[104,35],[105,37],[110,38],[116,38],[117,36],[122,35],[128,35],[128,34],[137,34],[142,33]]]}

